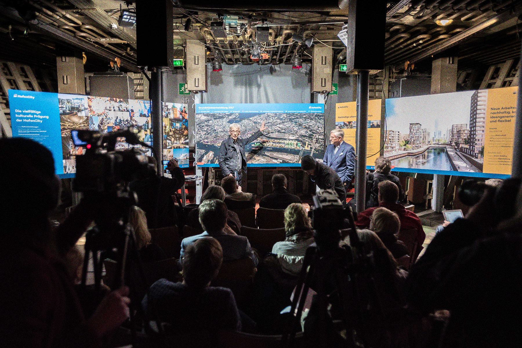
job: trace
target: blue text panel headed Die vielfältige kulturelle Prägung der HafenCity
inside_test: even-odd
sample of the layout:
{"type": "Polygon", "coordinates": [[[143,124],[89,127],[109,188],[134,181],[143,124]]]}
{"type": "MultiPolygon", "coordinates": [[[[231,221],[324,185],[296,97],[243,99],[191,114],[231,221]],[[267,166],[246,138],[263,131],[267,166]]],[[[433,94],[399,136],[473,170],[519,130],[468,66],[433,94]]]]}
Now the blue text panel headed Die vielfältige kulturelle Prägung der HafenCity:
{"type": "Polygon", "coordinates": [[[13,136],[30,138],[51,150],[57,175],[64,173],[58,94],[9,90],[13,136]]]}

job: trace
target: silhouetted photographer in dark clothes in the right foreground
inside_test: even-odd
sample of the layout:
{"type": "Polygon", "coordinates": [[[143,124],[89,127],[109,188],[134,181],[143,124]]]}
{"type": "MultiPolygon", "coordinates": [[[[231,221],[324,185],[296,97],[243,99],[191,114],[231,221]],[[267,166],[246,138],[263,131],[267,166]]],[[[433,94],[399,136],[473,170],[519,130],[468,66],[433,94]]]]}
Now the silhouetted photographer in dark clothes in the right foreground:
{"type": "Polygon", "coordinates": [[[435,235],[410,270],[409,302],[423,313],[450,312],[440,347],[522,342],[522,190],[509,191],[518,192],[516,200],[486,185],[479,202],[435,235]],[[507,209],[512,216],[499,218],[507,209]]]}

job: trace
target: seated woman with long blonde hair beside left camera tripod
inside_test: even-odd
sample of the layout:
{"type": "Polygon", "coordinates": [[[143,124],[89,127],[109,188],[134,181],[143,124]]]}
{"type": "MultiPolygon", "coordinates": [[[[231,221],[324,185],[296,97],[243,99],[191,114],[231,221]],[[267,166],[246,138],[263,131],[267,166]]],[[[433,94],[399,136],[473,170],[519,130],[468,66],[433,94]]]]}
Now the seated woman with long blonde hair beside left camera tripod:
{"type": "Polygon", "coordinates": [[[141,262],[156,262],[167,258],[167,254],[158,245],[151,243],[152,236],[147,227],[147,217],[143,209],[133,206],[131,207],[131,215],[129,216],[136,235],[136,248],[139,251],[141,262]]]}

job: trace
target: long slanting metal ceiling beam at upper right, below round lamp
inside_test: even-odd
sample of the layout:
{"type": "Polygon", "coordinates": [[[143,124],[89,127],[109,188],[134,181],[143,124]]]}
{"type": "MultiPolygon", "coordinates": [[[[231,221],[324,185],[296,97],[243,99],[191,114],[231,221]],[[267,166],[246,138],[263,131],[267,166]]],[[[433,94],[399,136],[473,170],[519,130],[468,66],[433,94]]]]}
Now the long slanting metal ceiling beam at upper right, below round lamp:
{"type": "Polygon", "coordinates": [[[501,13],[499,13],[491,18],[483,20],[482,22],[474,25],[473,27],[470,27],[470,28],[452,36],[451,38],[443,41],[441,44],[438,44],[435,47],[429,48],[426,51],[418,54],[417,56],[409,58],[408,60],[410,61],[410,63],[416,63],[419,60],[422,60],[431,55],[440,53],[440,52],[444,51],[445,49],[453,47],[453,46],[461,43],[462,41],[470,38],[470,36],[493,26],[494,24],[502,23],[508,19],[518,16],[519,13],[520,13],[520,1],[517,2],[517,4],[513,4],[513,7],[505,9],[501,13]]]}

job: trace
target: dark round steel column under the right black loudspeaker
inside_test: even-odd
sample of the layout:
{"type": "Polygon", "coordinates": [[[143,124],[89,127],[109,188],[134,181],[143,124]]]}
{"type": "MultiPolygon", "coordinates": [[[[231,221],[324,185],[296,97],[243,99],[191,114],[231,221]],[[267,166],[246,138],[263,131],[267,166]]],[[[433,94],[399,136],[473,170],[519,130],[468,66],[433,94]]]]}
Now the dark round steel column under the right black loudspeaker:
{"type": "Polygon", "coordinates": [[[364,210],[366,198],[366,140],[368,133],[368,89],[370,73],[359,70],[357,79],[357,167],[355,168],[355,210],[364,210]]]}

